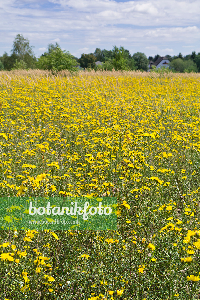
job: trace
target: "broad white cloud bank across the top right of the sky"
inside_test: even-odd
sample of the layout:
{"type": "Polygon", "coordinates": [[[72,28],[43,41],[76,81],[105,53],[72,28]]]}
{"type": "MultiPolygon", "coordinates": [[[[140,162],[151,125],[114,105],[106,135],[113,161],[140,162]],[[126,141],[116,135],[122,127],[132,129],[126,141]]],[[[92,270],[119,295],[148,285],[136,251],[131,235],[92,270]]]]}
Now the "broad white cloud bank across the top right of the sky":
{"type": "Polygon", "coordinates": [[[136,26],[178,25],[188,26],[199,22],[200,1],[194,0],[136,0],[116,2],[113,0],[51,0],[66,11],[69,7],[79,17],[90,13],[91,22],[102,24],[132,24],[136,26]]]}

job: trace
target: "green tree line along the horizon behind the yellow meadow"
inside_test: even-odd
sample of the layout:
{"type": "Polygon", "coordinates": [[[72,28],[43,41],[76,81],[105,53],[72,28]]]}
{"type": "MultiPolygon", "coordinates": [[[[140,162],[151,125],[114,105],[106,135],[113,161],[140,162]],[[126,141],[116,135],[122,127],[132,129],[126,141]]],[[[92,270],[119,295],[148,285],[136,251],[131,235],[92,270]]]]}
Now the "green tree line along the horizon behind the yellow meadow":
{"type": "MultiPolygon", "coordinates": [[[[33,52],[34,46],[30,46],[28,38],[23,35],[16,35],[13,41],[13,47],[10,55],[4,52],[0,56],[0,70],[13,69],[49,69],[49,70],[64,70],[70,71],[78,70],[78,68],[87,69],[104,69],[104,70],[142,70],[149,69],[149,62],[155,62],[160,55],[154,57],[146,55],[142,52],[136,52],[132,56],[129,50],[120,46],[113,46],[112,50],[101,50],[96,48],[94,53],[81,54],[81,58],[77,58],[69,53],[69,51],[62,50],[59,44],[48,44],[48,49],[44,54],[36,58],[33,52]],[[100,61],[101,64],[96,62],[100,61]]],[[[183,56],[179,53],[178,56],[166,55],[169,59],[169,69],[174,72],[200,72],[200,52],[183,56]]]]}

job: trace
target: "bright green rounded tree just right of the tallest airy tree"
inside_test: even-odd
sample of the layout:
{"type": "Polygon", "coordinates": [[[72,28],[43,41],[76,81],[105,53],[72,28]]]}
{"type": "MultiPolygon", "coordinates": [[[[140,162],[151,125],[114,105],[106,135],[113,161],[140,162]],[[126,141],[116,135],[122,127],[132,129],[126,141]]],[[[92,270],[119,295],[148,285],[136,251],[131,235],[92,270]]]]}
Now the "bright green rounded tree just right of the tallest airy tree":
{"type": "Polygon", "coordinates": [[[62,51],[60,46],[56,43],[56,45],[52,46],[49,44],[48,52],[45,52],[38,58],[36,66],[39,69],[48,69],[48,70],[70,70],[75,71],[77,61],[74,57],[66,50],[62,51]]]}

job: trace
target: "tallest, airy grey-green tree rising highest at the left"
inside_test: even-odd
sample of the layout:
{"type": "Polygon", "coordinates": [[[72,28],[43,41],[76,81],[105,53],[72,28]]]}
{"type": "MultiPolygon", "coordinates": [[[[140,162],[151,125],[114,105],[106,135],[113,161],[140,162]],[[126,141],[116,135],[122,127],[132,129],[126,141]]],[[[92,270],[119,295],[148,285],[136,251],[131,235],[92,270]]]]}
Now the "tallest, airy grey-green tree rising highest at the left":
{"type": "Polygon", "coordinates": [[[17,56],[17,61],[24,61],[28,68],[32,68],[36,62],[32,48],[33,46],[29,45],[28,38],[24,38],[23,35],[18,34],[13,41],[11,54],[17,56]]]}

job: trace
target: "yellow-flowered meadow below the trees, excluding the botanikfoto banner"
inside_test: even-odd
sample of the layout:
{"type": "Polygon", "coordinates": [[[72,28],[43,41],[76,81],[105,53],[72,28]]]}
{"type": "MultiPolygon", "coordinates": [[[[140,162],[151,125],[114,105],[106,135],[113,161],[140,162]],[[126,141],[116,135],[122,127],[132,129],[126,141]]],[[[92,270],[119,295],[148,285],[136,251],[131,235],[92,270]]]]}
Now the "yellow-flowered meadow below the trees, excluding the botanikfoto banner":
{"type": "Polygon", "coordinates": [[[0,299],[200,298],[199,83],[195,73],[0,72],[0,196],[118,203],[117,230],[0,224],[0,299]]]}

